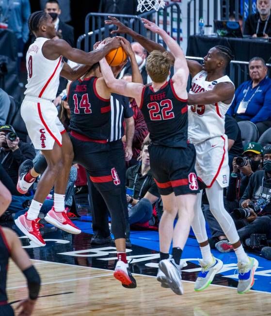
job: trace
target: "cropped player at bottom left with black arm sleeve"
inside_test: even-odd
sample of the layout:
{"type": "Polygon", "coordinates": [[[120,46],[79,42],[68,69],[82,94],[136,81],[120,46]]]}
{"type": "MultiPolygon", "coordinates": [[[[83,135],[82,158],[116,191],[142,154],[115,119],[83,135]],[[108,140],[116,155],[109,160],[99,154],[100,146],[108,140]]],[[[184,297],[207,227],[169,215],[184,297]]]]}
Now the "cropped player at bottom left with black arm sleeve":
{"type": "MultiPolygon", "coordinates": [[[[0,216],[10,204],[12,196],[7,188],[0,182],[0,216]]],[[[40,277],[32,266],[28,254],[21,247],[16,234],[9,228],[0,226],[0,315],[14,316],[13,308],[7,302],[6,281],[9,258],[12,258],[28,281],[29,298],[22,300],[16,309],[17,315],[32,315],[40,288],[40,277]]]]}

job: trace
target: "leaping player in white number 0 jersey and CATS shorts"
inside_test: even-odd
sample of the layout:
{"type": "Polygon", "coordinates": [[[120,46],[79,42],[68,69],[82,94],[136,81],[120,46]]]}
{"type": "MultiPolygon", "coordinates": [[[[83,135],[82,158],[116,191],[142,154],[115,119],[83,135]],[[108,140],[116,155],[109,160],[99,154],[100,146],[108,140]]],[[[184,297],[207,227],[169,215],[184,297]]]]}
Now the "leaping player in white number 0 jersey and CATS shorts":
{"type": "MultiPolygon", "coordinates": [[[[86,53],[55,38],[52,17],[44,11],[34,12],[29,17],[28,25],[36,40],[27,52],[28,83],[21,115],[34,147],[42,151],[48,168],[38,183],[29,210],[15,222],[33,242],[45,246],[38,228],[38,214],[53,186],[54,206],[45,217],[46,221],[69,233],[80,233],[80,229],[67,217],[64,206],[64,194],[74,155],[70,138],[57,118],[58,112],[52,103],[59,86],[59,77],[69,80],[80,78],[110,50],[119,47],[120,42],[117,38],[110,39],[105,47],[86,53]],[[63,57],[83,65],[72,69],[64,63],[63,57]]],[[[31,174],[32,165],[25,165],[25,168],[27,170],[20,170],[17,184],[17,190],[22,194],[27,192],[35,179],[31,174]]]]}

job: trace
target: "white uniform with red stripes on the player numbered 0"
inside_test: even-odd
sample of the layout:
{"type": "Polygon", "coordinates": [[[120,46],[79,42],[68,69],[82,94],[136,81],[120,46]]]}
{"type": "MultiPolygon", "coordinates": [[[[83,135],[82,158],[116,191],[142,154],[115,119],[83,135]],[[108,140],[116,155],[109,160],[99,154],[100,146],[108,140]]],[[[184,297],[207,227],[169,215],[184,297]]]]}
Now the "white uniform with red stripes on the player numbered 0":
{"type": "Polygon", "coordinates": [[[42,47],[48,38],[38,37],[26,54],[28,79],[21,115],[29,137],[36,149],[52,149],[54,142],[62,146],[64,126],[52,100],[55,99],[63,57],[49,60],[44,57],[42,47]]]}

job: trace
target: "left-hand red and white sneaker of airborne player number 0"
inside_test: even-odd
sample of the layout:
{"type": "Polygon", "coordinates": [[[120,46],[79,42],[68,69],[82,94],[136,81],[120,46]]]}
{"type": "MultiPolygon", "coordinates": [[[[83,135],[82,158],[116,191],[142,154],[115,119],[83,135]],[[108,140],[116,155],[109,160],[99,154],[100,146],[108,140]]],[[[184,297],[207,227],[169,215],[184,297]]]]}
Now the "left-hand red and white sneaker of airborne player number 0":
{"type": "Polygon", "coordinates": [[[40,221],[39,218],[36,220],[28,220],[27,218],[27,212],[21,216],[19,216],[15,220],[16,226],[22,231],[25,236],[27,236],[30,240],[32,240],[35,244],[37,244],[40,247],[43,247],[46,245],[46,242],[43,240],[43,237],[41,236],[41,233],[39,231],[38,222],[40,221]]]}

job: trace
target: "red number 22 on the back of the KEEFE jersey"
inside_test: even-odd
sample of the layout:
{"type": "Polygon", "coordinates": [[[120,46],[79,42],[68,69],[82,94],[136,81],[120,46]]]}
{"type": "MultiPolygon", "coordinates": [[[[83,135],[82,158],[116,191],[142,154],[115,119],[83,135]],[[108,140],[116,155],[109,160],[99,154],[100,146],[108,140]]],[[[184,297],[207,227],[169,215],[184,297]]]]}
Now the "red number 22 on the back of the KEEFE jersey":
{"type": "Polygon", "coordinates": [[[170,99],[162,100],[160,103],[148,103],[147,108],[152,121],[170,120],[175,117],[170,99]]]}

